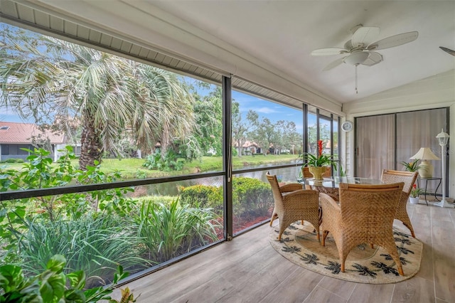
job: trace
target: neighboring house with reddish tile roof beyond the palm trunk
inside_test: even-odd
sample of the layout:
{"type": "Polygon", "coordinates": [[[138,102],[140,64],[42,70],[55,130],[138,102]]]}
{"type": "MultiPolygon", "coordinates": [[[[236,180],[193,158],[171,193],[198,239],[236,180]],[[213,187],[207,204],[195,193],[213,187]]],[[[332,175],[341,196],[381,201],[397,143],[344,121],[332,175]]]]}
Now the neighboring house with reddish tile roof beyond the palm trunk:
{"type": "Polygon", "coordinates": [[[53,132],[41,132],[36,124],[18,122],[0,122],[0,161],[6,159],[26,159],[28,151],[22,148],[33,149],[32,137],[40,135],[50,139],[52,158],[58,159],[58,149],[65,147],[65,135],[53,132]]]}

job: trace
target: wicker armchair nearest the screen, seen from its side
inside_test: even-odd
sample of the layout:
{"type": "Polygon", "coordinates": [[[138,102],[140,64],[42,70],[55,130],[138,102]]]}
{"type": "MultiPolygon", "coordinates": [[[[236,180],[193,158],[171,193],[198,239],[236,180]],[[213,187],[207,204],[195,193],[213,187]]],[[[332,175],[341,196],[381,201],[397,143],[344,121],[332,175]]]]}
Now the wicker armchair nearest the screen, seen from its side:
{"type": "Polygon", "coordinates": [[[277,176],[267,173],[272,186],[275,206],[270,218],[270,225],[279,218],[278,240],[282,239],[284,230],[296,220],[307,220],[316,230],[319,240],[319,193],[302,189],[301,184],[285,184],[279,186],[277,176]],[[283,194],[285,193],[285,194],[283,194]]]}

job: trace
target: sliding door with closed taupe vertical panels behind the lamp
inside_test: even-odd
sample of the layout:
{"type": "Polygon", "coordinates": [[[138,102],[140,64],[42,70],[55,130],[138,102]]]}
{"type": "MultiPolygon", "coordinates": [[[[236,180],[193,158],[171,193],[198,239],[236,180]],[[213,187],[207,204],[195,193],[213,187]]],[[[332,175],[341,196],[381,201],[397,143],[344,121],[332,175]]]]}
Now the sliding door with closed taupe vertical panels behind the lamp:
{"type": "MultiPolygon", "coordinates": [[[[380,179],[382,169],[404,170],[400,163],[412,161],[410,157],[421,147],[429,147],[441,158],[436,135],[441,129],[448,132],[449,117],[446,108],[439,108],[358,117],[355,125],[355,176],[380,179]]],[[[441,161],[432,165],[433,176],[441,177],[441,161]]]]}

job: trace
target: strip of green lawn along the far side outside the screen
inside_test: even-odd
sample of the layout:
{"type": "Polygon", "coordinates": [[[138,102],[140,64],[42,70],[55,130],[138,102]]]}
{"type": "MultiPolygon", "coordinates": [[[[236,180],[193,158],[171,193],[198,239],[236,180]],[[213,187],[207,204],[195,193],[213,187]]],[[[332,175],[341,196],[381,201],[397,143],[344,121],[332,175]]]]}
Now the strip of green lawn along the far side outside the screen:
{"type": "MultiPolygon", "coordinates": [[[[243,169],[247,167],[254,167],[263,164],[271,164],[277,162],[287,162],[297,159],[297,155],[282,154],[282,155],[267,155],[262,154],[255,156],[235,156],[233,158],[234,169],[243,169]]],[[[193,160],[186,162],[181,171],[157,171],[145,169],[145,159],[103,159],[101,163],[102,171],[106,173],[118,170],[122,172],[122,176],[125,179],[136,179],[136,178],[151,178],[161,176],[179,176],[182,174],[196,174],[198,172],[205,171],[220,171],[223,167],[223,158],[220,156],[203,156],[199,160],[193,160]]],[[[77,160],[73,161],[74,166],[77,167],[77,160]]],[[[53,164],[55,165],[55,164],[53,164]]],[[[16,169],[20,170],[23,164],[21,163],[2,163],[0,169],[16,169]]]]}

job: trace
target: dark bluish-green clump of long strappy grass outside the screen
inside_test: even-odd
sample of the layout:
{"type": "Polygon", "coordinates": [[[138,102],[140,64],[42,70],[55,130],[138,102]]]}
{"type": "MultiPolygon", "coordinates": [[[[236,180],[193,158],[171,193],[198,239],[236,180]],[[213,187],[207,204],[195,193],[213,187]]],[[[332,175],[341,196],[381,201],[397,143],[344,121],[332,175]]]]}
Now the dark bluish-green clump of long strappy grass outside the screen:
{"type": "Polygon", "coordinates": [[[83,270],[87,287],[107,284],[121,262],[127,270],[143,270],[140,240],[128,220],[89,213],[77,220],[34,220],[19,242],[23,269],[36,274],[52,255],[64,255],[66,267],[83,270]]]}

